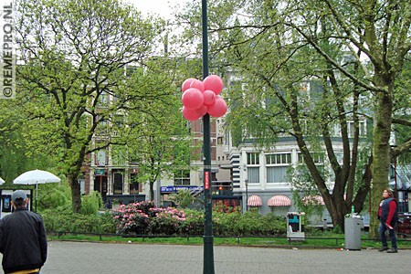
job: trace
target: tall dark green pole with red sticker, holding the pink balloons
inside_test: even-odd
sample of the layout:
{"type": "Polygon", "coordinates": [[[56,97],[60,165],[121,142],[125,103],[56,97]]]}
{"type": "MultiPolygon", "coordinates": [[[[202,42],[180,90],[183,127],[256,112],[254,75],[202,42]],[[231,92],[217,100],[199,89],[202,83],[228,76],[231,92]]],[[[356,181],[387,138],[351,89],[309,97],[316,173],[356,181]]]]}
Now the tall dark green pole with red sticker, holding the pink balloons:
{"type": "MultiPolygon", "coordinates": [[[[207,2],[202,0],[202,19],[203,19],[203,79],[208,76],[208,34],[207,34],[207,2]]],[[[214,274],[214,251],[213,251],[213,207],[211,202],[211,134],[210,134],[210,115],[203,116],[204,127],[204,274],[214,274]]]]}

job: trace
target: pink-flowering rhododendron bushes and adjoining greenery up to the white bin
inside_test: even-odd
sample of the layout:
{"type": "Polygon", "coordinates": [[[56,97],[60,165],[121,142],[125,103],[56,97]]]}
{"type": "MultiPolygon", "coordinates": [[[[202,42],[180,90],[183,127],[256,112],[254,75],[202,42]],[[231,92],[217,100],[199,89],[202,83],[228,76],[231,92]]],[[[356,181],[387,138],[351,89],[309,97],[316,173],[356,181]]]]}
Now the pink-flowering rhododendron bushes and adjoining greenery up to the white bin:
{"type": "MultiPolygon", "coordinates": [[[[286,233],[285,216],[255,212],[241,214],[216,206],[213,234],[216,236],[277,236],[286,233]]],[[[116,232],[121,235],[191,235],[204,233],[204,212],[195,209],[156,207],[153,202],[121,205],[113,212],[116,232]]]]}

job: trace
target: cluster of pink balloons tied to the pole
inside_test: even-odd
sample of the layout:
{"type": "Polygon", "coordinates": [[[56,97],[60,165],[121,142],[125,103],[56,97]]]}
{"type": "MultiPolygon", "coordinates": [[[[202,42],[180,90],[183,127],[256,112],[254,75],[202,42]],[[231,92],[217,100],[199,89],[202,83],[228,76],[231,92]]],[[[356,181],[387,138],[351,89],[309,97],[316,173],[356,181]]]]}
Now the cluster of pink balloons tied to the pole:
{"type": "Polygon", "coordinates": [[[221,117],[227,112],[227,103],[218,96],[223,90],[223,80],[216,75],[209,75],[203,81],[189,78],[181,87],[183,95],[183,116],[188,121],[195,121],[206,113],[221,117]]]}

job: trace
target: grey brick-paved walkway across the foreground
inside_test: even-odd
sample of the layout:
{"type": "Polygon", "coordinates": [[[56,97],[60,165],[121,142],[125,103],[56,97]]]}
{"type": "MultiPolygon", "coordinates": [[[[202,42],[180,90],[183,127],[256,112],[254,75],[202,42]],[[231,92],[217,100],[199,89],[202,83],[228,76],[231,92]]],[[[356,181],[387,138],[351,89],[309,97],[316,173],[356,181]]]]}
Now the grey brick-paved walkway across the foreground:
{"type": "MultiPolygon", "coordinates": [[[[203,246],[48,243],[42,274],[203,273],[203,246]]],[[[214,247],[216,274],[249,273],[411,273],[411,250],[214,247]]]]}

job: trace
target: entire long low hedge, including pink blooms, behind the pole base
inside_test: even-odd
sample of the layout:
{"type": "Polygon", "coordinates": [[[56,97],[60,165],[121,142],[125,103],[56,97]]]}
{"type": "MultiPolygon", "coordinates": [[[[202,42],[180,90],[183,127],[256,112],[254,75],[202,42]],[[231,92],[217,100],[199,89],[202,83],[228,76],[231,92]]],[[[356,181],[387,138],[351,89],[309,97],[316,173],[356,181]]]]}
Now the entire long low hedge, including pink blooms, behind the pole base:
{"type": "MultiPolygon", "coordinates": [[[[72,214],[47,210],[42,213],[49,232],[117,233],[120,235],[202,236],[204,212],[194,209],[156,208],[150,202],[122,206],[103,214],[72,214]],[[139,214],[136,214],[136,213],[139,214]]],[[[261,216],[255,212],[213,212],[215,236],[283,236],[282,216],[261,216]]]]}

